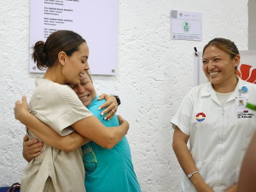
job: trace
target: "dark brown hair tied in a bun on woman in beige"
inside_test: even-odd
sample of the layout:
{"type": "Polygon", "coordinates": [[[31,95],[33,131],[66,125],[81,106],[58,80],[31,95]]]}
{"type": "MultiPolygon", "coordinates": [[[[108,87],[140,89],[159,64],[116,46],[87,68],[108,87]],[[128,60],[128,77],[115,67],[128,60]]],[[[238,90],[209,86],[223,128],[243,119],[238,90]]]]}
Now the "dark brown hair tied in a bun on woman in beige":
{"type": "Polygon", "coordinates": [[[58,59],[58,54],[64,51],[68,56],[79,50],[79,45],[86,43],[78,33],[60,30],[53,32],[44,41],[38,41],[33,47],[32,58],[37,63],[37,67],[43,70],[46,67],[53,67],[58,59]]]}

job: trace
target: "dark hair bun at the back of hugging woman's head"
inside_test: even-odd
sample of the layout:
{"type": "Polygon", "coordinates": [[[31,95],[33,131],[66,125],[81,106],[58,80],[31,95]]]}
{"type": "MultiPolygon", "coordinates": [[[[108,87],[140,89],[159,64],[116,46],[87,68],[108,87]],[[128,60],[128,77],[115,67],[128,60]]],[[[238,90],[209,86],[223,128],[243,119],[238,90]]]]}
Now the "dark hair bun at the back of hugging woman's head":
{"type": "Polygon", "coordinates": [[[38,41],[33,49],[32,58],[37,63],[38,68],[43,69],[47,67],[47,55],[44,52],[44,41],[38,41]]]}

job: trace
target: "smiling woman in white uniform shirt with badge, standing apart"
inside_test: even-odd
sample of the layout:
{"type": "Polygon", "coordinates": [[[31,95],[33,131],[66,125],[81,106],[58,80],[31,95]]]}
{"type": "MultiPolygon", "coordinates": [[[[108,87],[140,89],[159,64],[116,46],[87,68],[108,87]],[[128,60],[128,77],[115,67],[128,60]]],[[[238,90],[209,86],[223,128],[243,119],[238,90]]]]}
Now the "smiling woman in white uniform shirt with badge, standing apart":
{"type": "Polygon", "coordinates": [[[209,82],[189,91],[171,121],[182,191],[237,190],[241,160],[256,130],[256,113],[246,108],[247,99],[256,100],[256,85],[236,76],[239,62],[236,44],[212,39],[202,58],[209,82]]]}

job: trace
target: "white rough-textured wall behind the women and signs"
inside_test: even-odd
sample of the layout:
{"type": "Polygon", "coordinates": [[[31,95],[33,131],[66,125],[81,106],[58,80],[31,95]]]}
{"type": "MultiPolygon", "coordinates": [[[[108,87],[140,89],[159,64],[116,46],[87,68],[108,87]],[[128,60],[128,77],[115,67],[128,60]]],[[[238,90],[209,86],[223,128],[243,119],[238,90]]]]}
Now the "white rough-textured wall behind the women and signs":
{"type": "MultiPolygon", "coordinates": [[[[28,73],[29,9],[29,0],[0,1],[0,186],[20,182],[26,166],[25,130],[13,108],[34,88],[35,75],[28,73]]],[[[131,125],[128,139],[143,191],[178,191],[181,169],[169,122],[193,85],[193,48],[223,37],[247,49],[247,22],[247,0],[119,0],[119,75],[93,79],[100,93],[121,98],[119,113],[131,125]],[[203,14],[202,42],[171,40],[171,9],[203,14]]]]}

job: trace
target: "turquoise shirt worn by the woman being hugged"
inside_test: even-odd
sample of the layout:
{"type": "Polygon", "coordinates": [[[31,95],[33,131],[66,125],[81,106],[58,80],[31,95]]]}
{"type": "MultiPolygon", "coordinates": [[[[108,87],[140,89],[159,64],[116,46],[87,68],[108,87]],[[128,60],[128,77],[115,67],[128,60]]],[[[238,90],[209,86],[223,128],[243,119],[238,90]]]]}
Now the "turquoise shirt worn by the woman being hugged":
{"type": "MultiPolygon", "coordinates": [[[[116,115],[109,121],[103,120],[102,110],[98,108],[105,100],[97,97],[88,109],[106,127],[119,126],[116,115]]],[[[94,142],[83,147],[86,192],[141,192],[131,162],[131,149],[126,137],[113,148],[102,148],[94,142]]]]}

